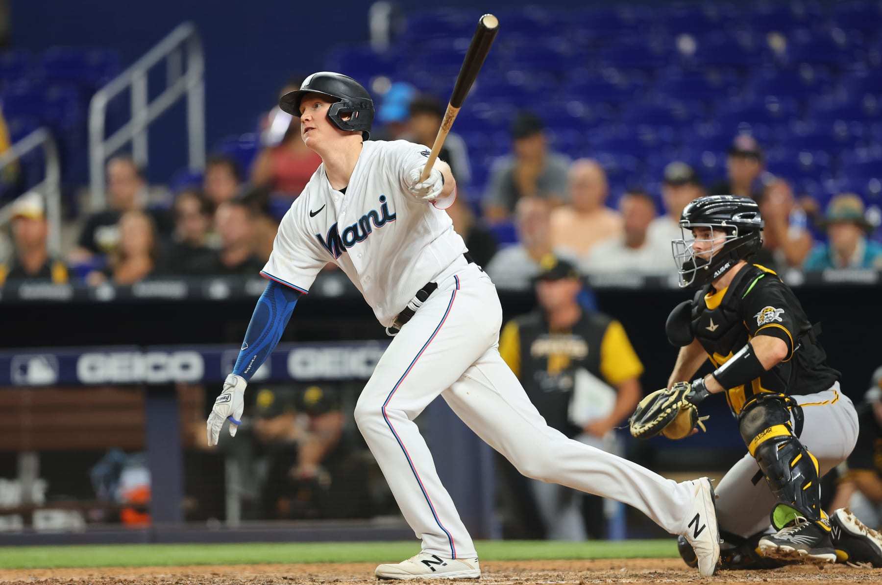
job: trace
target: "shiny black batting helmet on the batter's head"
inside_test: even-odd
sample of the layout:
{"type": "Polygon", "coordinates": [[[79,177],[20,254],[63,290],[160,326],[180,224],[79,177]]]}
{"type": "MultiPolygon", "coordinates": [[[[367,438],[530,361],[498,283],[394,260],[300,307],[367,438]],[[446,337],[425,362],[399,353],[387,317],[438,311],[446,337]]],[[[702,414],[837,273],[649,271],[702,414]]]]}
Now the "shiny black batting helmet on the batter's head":
{"type": "Polygon", "coordinates": [[[370,138],[370,125],[374,121],[374,102],[364,87],[341,73],[319,71],[303,80],[295,92],[281,96],[279,107],[290,115],[300,117],[300,101],[307,93],[318,93],[336,100],[328,108],[328,119],[340,130],[361,132],[365,140],[370,138]],[[348,120],[340,115],[349,114],[348,120]]]}

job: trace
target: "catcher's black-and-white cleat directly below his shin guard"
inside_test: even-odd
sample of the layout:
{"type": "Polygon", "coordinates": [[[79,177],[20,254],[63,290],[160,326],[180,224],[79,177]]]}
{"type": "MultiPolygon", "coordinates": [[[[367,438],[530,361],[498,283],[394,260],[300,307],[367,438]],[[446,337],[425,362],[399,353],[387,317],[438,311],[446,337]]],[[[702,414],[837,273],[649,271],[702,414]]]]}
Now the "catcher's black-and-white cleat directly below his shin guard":
{"type": "Polygon", "coordinates": [[[816,565],[836,561],[829,522],[806,520],[803,516],[796,516],[777,533],[760,538],[759,553],[770,559],[802,560],[816,565]]]}

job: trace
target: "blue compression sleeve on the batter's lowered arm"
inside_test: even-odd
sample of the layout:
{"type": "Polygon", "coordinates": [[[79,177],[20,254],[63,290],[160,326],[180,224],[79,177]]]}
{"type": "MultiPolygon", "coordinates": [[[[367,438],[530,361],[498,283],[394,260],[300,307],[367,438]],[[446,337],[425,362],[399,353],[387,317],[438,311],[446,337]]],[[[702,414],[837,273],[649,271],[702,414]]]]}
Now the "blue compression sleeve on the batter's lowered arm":
{"type": "Polygon", "coordinates": [[[288,325],[291,312],[297,304],[300,292],[271,280],[254,307],[254,315],[245,332],[245,341],[239,358],[235,360],[233,374],[250,380],[279,343],[282,331],[288,325]]]}

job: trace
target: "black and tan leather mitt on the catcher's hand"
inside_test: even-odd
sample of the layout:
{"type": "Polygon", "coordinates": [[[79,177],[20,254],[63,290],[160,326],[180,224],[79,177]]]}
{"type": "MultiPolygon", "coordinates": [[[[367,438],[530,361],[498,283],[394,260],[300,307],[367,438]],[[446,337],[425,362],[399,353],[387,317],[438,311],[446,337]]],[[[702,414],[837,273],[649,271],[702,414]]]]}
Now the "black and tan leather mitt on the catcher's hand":
{"type": "Polygon", "coordinates": [[[676,440],[688,437],[696,426],[706,431],[707,417],[699,417],[698,407],[686,400],[690,391],[689,382],[679,381],[641,400],[628,419],[631,434],[638,439],[649,439],[661,433],[676,440]]]}

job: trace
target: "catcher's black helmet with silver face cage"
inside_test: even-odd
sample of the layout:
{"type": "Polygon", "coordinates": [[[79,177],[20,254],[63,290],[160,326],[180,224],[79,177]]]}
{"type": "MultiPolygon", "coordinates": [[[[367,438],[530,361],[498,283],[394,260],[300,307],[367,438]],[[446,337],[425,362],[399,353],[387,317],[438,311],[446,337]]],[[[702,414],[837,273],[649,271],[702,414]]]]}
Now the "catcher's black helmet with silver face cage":
{"type": "Polygon", "coordinates": [[[756,254],[762,246],[763,220],[759,205],[750,197],[713,195],[699,197],[686,205],[680,216],[681,240],[671,241],[680,286],[699,286],[721,277],[739,260],[756,254]],[[696,255],[691,229],[707,227],[710,241],[725,234],[721,245],[708,250],[710,258],[696,255]]]}

